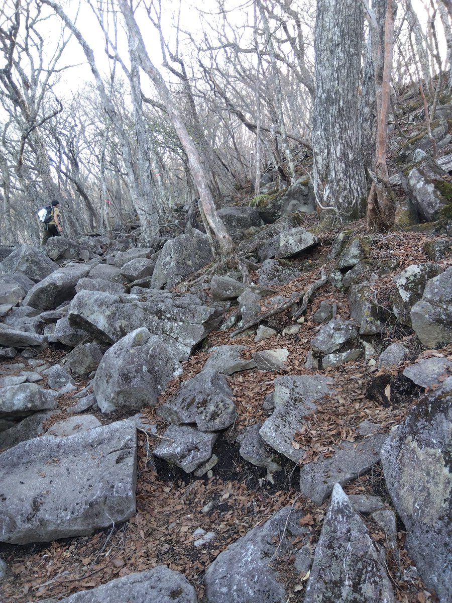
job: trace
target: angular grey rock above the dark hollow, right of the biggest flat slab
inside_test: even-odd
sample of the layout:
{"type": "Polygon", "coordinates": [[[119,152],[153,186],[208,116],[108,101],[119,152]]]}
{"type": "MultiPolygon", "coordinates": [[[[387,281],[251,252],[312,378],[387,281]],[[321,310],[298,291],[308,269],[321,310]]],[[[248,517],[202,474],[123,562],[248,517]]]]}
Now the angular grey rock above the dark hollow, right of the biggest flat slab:
{"type": "Polygon", "coordinates": [[[218,434],[205,433],[192,427],[170,425],[152,451],[155,456],[171,461],[186,473],[192,473],[212,456],[218,434]]]}

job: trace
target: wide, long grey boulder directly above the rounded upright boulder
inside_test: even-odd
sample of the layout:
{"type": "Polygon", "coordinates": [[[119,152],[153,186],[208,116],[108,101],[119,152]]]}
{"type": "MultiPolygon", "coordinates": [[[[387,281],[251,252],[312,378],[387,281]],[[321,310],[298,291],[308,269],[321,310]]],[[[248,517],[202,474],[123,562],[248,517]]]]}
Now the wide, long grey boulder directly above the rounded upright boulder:
{"type": "Polygon", "coordinates": [[[196,295],[149,291],[109,295],[81,291],[69,309],[69,322],[112,344],[139,327],[159,335],[175,358],[187,360],[193,348],[218,326],[222,308],[202,305],[196,295]]]}

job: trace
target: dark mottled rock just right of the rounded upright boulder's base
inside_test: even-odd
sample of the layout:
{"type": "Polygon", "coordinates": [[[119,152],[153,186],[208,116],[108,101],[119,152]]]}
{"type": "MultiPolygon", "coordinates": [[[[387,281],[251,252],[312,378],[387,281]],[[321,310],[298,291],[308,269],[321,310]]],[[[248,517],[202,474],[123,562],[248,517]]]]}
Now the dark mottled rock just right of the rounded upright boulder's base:
{"type": "Polygon", "coordinates": [[[201,431],[227,429],[237,417],[234,394],[226,377],[202,371],[181,384],[175,396],[159,407],[159,415],[174,425],[196,424],[201,431]]]}

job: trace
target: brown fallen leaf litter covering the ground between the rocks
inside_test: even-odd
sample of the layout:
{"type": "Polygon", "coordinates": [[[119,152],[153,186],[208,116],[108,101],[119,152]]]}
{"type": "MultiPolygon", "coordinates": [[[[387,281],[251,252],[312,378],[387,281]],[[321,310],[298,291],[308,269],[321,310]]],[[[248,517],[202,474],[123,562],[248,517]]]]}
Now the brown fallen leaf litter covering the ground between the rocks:
{"type": "MultiPolygon", "coordinates": [[[[362,222],[356,223],[354,227],[358,232],[364,229],[362,222]]],[[[319,265],[324,263],[333,236],[324,235],[320,255],[313,259],[310,273],[304,273],[288,285],[275,288],[275,292],[288,296],[294,291],[303,291],[316,280],[319,265]]],[[[398,260],[397,270],[381,277],[374,287],[375,300],[384,306],[390,315],[391,295],[395,292],[394,274],[410,264],[428,261],[423,248],[427,238],[427,235],[419,233],[399,232],[374,237],[371,259],[377,262],[398,260]]],[[[446,266],[451,264],[451,260],[438,263],[446,266]]],[[[219,458],[219,463],[213,469],[213,478],[193,478],[177,467],[147,454],[149,447],[152,449],[159,441],[158,435],[165,430],[166,424],[157,416],[155,408],[143,409],[149,423],[157,424],[158,432],[157,436],[146,435],[141,431],[138,434],[136,515],[122,525],[115,525],[86,537],[66,538],[30,546],[0,545],[0,556],[9,567],[7,578],[0,583],[0,601],[54,601],[78,590],[90,589],[113,578],[152,569],[159,564],[166,564],[171,569],[184,573],[196,587],[199,599],[202,600],[202,578],[209,564],[228,545],[287,505],[304,511],[306,515],[303,521],[310,529],[310,541],[315,544],[328,502],[316,507],[300,494],[299,469],[288,460],[283,471],[275,473],[275,484],[271,484],[265,479],[265,470],[252,466],[240,457],[236,437],[246,426],[257,421],[262,422],[271,414],[271,411],[262,409],[262,403],[266,395],[272,392],[275,377],[313,374],[313,371],[304,368],[304,362],[310,341],[319,328],[319,325],[312,321],[312,315],[322,300],[334,301],[339,308],[338,315],[349,317],[347,296],[330,285],[325,285],[313,295],[305,313],[303,328],[296,335],[280,334],[256,344],[254,335],[243,335],[231,340],[232,329],[210,334],[210,346],[242,344],[249,347],[249,354],[256,350],[276,347],[286,347],[290,352],[290,364],[283,371],[249,370],[235,373],[228,378],[234,392],[238,417],[216,444],[214,452],[219,458]],[[211,508],[206,512],[203,508],[209,503],[211,508]],[[196,548],[193,545],[196,539],[193,532],[196,528],[214,531],[215,540],[196,548]]],[[[281,333],[289,324],[289,315],[284,313],[276,315],[270,326],[281,333]]],[[[393,371],[394,376],[397,376],[406,365],[418,358],[421,348],[412,331],[394,329],[389,321],[384,347],[394,342],[401,342],[410,350],[410,358],[393,371]]],[[[42,356],[55,364],[65,353],[66,350],[61,347],[51,347],[42,356]]],[[[442,355],[452,359],[452,346],[421,353],[421,356],[428,355],[442,355]]],[[[206,352],[199,351],[184,362],[183,376],[169,384],[160,396],[159,404],[177,391],[180,380],[197,374],[208,356],[206,352]]],[[[393,388],[390,399],[380,405],[367,397],[368,386],[374,382],[375,377],[384,373],[375,365],[369,366],[368,361],[364,360],[349,362],[320,373],[334,378],[339,395],[325,399],[316,414],[310,417],[309,432],[299,434],[296,438],[300,446],[306,447],[307,450],[303,463],[315,459],[319,453],[328,454],[328,450],[341,440],[354,441],[357,426],[365,419],[378,423],[381,431],[388,432],[391,426],[403,421],[412,403],[424,393],[424,390],[419,390],[413,384],[407,384],[400,376],[395,381],[398,385],[393,388]]],[[[81,390],[86,383],[80,382],[77,385],[78,390],[81,390]]],[[[71,415],[70,406],[74,402],[71,394],[60,399],[60,406],[66,409],[68,416],[71,415]]],[[[99,412],[96,417],[102,423],[122,418],[116,415],[102,415],[99,412]]],[[[374,466],[370,473],[354,480],[344,489],[348,494],[378,495],[391,504],[379,464],[374,466]]],[[[381,529],[369,522],[368,518],[363,519],[375,540],[385,545],[385,534],[381,529]]],[[[434,601],[413,570],[404,549],[404,526],[399,523],[398,529],[400,556],[389,552],[387,556],[388,570],[397,600],[404,603],[434,601]]],[[[281,564],[280,567],[287,567],[287,564],[284,565],[284,557],[275,556],[272,563],[275,566],[281,564]]],[[[303,601],[307,576],[287,570],[284,570],[283,576],[288,601],[303,601]]]]}

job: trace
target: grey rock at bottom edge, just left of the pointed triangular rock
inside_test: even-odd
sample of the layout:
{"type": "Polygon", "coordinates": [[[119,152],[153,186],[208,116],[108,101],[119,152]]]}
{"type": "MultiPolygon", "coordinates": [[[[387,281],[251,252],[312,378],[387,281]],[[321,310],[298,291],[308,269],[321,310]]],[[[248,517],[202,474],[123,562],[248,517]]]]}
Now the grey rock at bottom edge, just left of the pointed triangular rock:
{"type": "Polygon", "coordinates": [[[292,557],[294,541],[307,534],[302,517],[300,511],[281,509],[220,553],[204,576],[206,603],[286,603],[277,555],[292,557]]]}

